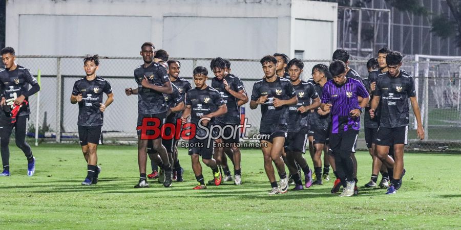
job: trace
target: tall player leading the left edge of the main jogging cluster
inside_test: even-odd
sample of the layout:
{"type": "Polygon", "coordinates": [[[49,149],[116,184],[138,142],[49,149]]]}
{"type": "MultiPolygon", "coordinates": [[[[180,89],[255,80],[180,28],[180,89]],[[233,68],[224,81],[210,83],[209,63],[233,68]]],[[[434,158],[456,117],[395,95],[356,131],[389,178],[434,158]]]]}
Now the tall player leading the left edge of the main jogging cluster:
{"type": "MultiPolygon", "coordinates": [[[[141,45],[140,55],[144,64],[138,66],[134,71],[134,76],[138,88],[126,88],[125,94],[138,95],[138,127],[143,124],[144,118],[157,118],[160,122],[159,127],[165,122],[167,108],[163,94],[172,94],[173,88],[170,79],[166,73],[166,68],[158,63],[153,62],[154,45],[151,42],[144,42],[141,45]]],[[[149,125],[149,124],[148,124],[149,125]]],[[[148,135],[153,134],[148,132],[148,135]]],[[[146,148],[149,140],[141,139],[141,130],[138,129],[138,166],[139,182],[135,188],[146,188],[149,184],[146,181],[146,148]]],[[[161,135],[153,142],[154,151],[158,152],[163,164],[159,167],[165,171],[164,187],[170,187],[172,182],[172,168],[169,156],[165,147],[162,145],[161,135]]]]}

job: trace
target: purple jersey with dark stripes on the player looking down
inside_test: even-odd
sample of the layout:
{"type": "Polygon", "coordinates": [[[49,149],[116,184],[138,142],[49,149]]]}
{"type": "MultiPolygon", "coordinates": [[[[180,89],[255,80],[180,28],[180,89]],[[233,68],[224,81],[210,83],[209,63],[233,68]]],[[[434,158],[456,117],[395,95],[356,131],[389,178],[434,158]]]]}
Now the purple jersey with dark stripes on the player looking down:
{"type": "Polygon", "coordinates": [[[323,86],[322,103],[332,104],[331,133],[360,129],[360,116],[350,116],[351,110],[359,108],[358,96],[368,98],[368,92],[360,81],[352,78],[346,78],[342,85],[330,80],[323,86]]]}

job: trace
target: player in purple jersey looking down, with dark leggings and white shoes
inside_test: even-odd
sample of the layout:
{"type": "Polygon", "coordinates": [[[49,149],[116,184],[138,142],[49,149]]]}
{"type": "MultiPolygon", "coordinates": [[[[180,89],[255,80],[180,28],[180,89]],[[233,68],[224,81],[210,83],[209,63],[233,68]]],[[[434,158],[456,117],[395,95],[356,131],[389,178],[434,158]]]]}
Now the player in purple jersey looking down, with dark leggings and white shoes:
{"type": "Polygon", "coordinates": [[[355,187],[352,153],[359,135],[360,114],[369,101],[369,95],[362,83],[346,77],[343,61],[331,62],[329,71],[333,81],[324,85],[321,108],[331,113],[330,149],[336,172],[345,187],[340,196],[352,196],[355,187]],[[360,104],[358,97],[362,98],[360,104]]]}

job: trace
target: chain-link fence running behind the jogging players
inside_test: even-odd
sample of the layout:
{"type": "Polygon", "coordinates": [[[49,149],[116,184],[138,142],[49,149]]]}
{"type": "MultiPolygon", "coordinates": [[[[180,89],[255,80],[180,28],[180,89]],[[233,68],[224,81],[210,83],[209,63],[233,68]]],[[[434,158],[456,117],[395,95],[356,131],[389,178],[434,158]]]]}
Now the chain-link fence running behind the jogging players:
{"type": "MultiPolygon", "coordinates": [[[[18,56],[20,65],[30,68],[36,76],[41,72],[41,90],[39,112],[37,115],[37,96],[30,97],[31,116],[29,135],[34,135],[35,124],[39,125],[40,141],[76,142],[78,106],[70,103],[75,80],[85,76],[83,57],[18,56]],[[38,118],[37,118],[38,117],[38,118]]],[[[173,58],[171,58],[173,59],[173,58]]],[[[208,68],[211,59],[176,58],[181,62],[180,76],[191,81],[194,67],[202,65],[208,68]]],[[[231,59],[232,73],[239,76],[251,95],[253,84],[263,78],[259,60],[231,59]]],[[[329,60],[305,60],[302,79],[311,78],[311,68],[318,63],[328,64],[329,60]]],[[[126,96],[124,89],[136,87],[133,71],[142,64],[141,58],[102,57],[97,75],[107,79],[112,86],[115,101],[104,112],[104,140],[123,142],[136,140],[137,96],[126,96]]],[[[368,75],[366,60],[351,60],[349,66],[357,70],[362,78],[368,75]]],[[[410,111],[411,140],[408,149],[419,150],[461,150],[461,61],[415,61],[414,57],[405,57],[402,66],[415,77],[417,97],[422,110],[426,130],[426,139],[416,142],[414,116],[410,111]]],[[[209,81],[214,77],[209,72],[209,81]]],[[[105,99],[104,99],[105,100],[105,99]]],[[[245,117],[257,133],[260,124],[260,109],[249,109],[244,105],[245,117]]],[[[362,119],[363,120],[363,119],[362,119]]],[[[361,130],[363,144],[363,129],[361,130]]]]}

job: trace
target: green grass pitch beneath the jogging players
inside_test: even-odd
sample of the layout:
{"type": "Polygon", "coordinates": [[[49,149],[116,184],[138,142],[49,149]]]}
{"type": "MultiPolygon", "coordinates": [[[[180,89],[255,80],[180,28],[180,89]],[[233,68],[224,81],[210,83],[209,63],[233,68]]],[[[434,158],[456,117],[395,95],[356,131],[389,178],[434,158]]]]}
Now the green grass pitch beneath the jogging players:
{"type": "MultiPolygon", "coordinates": [[[[332,180],[266,195],[270,186],[259,150],[243,150],[242,186],[227,182],[201,191],[192,190],[196,181],[184,149],[185,181],[172,188],[152,181],[149,189],[133,189],[139,176],[135,146],[100,146],[100,182],[90,187],[80,185],[86,163],[78,145],[33,147],[33,177],[26,176],[23,153],[13,145],[10,150],[12,175],[0,177],[1,229],[461,228],[461,155],[408,153],[396,195],[361,189],[357,197],[338,197],[329,193],[332,180]]],[[[363,186],[371,157],[359,152],[357,158],[363,186]]],[[[204,167],[204,176],[212,179],[211,170],[204,167]]]]}

